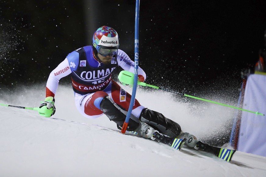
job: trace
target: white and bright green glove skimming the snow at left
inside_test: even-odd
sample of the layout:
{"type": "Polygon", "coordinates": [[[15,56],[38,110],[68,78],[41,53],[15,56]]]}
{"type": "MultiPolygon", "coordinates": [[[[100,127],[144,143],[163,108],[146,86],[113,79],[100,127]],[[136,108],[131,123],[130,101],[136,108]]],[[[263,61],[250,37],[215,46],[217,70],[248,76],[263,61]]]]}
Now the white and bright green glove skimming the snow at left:
{"type": "Polygon", "coordinates": [[[44,102],[38,108],[38,112],[41,116],[51,117],[55,114],[55,99],[52,96],[45,98],[44,102]]]}

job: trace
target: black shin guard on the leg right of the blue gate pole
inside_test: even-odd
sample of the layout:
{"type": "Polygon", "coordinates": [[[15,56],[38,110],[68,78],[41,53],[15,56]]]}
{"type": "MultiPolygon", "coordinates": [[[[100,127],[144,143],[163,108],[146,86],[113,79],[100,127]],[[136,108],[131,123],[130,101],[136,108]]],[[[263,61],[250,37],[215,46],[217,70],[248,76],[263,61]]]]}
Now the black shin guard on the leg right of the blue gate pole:
{"type": "Polygon", "coordinates": [[[181,132],[181,127],[178,123],[148,108],[142,110],[139,119],[169,137],[177,137],[181,132]]]}

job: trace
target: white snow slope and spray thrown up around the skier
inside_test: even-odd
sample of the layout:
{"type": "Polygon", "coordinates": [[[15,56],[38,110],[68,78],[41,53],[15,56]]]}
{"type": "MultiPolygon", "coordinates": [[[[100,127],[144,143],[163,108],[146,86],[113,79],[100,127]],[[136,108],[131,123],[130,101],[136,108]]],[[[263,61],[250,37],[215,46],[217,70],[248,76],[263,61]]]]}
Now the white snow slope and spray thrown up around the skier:
{"type": "MultiPolygon", "coordinates": [[[[12,95],[2,95],[0,103],[38,106],[45,97],[44,88],[20,88],[12,95]]],[[[226,117],[233,114],[221,106],[211,107],[211,111],[196,106],[193,112],[193,105],[176,102],[170,94],[158,91],[139,90],[136,98],[199,139],[220,128],[211,126],[213,123],[228,121],[226,117]]],[[[122,135],[105,115],[87,119],[74,106],[71,86],[59,85],[55,99],[52,118],[56,119],[33,110],[0,106],[0,176],[266,176],[266,158],[262,156],[236,151],[229,163],[187,148],[177,151],[122,135]]]]}

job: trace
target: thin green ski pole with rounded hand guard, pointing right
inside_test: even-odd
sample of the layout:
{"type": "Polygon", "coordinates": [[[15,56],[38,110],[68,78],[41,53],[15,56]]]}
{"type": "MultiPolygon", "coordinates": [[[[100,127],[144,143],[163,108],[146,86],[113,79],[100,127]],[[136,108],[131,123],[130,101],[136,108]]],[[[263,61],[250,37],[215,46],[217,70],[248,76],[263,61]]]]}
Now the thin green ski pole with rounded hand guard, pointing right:
{"type": "MultiPolygon", "coordinates": [[[[118,79],[119,79],[120,82],[123,83],[123,85],[133,85],[133,78],[134,78],[134,74],[129,72],[129,71],[121,71],[119,73],[119,75],[118,75],[118,79]]],[[[140,81],[138,81],[138,85],[141,85],[141,86],[144,86],[144,87],[146,87],[146,86],[147,87],[152,87],[152,88],[156,88],[156,89],[163,90],[163,91],[166,91],[166,92],[172,92],[172,93],[176,93],[176,94],[179,94],[179,95],[187,96],[187,97],[190,97],[190,98],[199,99],[199,100],[202,100],[202,101],[211,102],[211,103],[215,103],[215,104],[222,105],[222,106],[227,106],[227,107],[230,107],[230,108],[239,109],[239,110],[246,111],[246,112],[249,112],[249,113],[254,113],[256,115],[265,116],[264,114],[259,113],[258,111],[254,112],[254,111],[249,111],[249,110],[238,108],[238,107],[234,107],[234,106],[229,106],[229,105],[222,104],[222,103],[219,103],[219,102],[214,102],[214,101],[211,101],[211,100],[198,98],[196,96],[186,95],[184,93],[175,92],[175,91],[171,91],[171,90],[168,90],[168,89],[165,89],[165,88],[161,88],[161,87],[158,87],[158,86],[146,84],[146,83],[140,82],[140,81]]]]}

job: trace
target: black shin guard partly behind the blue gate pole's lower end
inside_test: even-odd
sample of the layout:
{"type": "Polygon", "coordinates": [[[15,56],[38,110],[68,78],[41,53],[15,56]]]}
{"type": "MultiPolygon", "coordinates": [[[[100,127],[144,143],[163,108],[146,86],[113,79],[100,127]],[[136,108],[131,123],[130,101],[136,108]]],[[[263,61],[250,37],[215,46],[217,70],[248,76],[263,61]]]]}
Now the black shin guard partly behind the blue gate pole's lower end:
{"type": "MultiPolygon", "coordinates": [[[[122,127],[126,120],[127,111],[119,107],[110,96],[105,96],[101,101],[100,108],[102,112],[111,120],[114,121],[119,127],[122,127]]],[[[130,115],[127,130],[133,131],[138,128],[140,124],[139,119],[133,114],[130,115]]]]}

